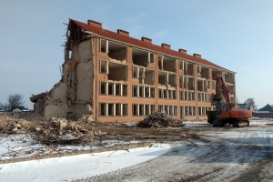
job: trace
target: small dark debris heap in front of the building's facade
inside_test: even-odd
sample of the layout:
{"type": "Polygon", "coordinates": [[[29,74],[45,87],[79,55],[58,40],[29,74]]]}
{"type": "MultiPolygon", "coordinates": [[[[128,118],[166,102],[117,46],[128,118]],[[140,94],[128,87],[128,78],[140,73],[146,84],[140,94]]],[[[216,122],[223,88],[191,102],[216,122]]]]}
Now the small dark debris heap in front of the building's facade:
{"type": "Polygon", "coordinates": [[[180,127],[183,126],[182,120],[173,119],[164,112],[155,111],[151,115],[140,121],[137,126],[161,128],[161,127],[180,127]]]}

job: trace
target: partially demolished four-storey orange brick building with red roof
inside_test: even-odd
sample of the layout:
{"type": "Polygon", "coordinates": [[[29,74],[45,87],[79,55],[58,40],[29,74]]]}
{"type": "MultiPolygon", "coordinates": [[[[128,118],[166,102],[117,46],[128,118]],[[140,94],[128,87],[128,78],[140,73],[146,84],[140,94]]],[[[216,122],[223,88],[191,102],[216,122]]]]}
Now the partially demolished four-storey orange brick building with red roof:
{"type": "MultiPolygon", "coordinates": [[[[31,97],[45,119],[91,115],[101,122],[138,121],[154,110],[177,119],[206,119],[222,71],[235,101],[235,73],[200,55],[154,45],[102,24],[70,19],[63,76],[48,93],[31,97]]],[[[236,104],[236,103],[235,103],[236,104]]]]}

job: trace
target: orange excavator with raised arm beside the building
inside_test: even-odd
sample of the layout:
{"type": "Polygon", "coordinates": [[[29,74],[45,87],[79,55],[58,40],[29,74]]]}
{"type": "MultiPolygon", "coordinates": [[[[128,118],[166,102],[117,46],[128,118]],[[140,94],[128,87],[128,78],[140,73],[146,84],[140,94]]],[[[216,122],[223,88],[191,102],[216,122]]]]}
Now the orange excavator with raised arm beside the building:
{"type": "Polygon", "coordinates": [[[207,123],[213,126],[249,126],[248,118],[252,117],[252,112],[247,108],[234,107],[221,72],[217,72],[216,94],[212,96],[211,106],[212,111],[207,111],[207,123]]]}

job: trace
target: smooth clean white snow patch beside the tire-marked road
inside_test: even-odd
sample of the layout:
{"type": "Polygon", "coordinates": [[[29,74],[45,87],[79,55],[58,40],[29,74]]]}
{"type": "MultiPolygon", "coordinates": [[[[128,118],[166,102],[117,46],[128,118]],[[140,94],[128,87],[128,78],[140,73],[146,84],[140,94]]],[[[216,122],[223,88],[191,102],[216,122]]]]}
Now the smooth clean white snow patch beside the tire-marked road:
{"type": "Polygon", "coordinates": [[[57,157],[0,165],[1,181],[69,181],[134,166],[169,150],[168,144],[153,147],[57,157]]]}

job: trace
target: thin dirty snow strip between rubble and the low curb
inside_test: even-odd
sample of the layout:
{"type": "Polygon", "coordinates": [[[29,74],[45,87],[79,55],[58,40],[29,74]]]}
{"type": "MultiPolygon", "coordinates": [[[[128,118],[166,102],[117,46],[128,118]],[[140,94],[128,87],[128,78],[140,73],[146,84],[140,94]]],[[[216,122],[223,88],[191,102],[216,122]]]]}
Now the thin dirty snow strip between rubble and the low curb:
{"type": "Polygon", "coordinates": [[[128,145],[140,143],[133,140],[97,140],[92,144],[86,145],[60,145],[45,146],[37,143],[31,134],[6,135],[0,138],[0,160],[21,157],[34,157],[46,154],[56,154],[65,152],[74,152],[87,149],[95,149],[99,147],[114,147],[115,145],[128,145]]]}

